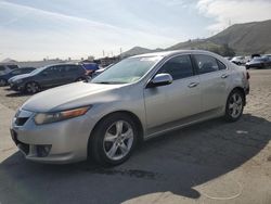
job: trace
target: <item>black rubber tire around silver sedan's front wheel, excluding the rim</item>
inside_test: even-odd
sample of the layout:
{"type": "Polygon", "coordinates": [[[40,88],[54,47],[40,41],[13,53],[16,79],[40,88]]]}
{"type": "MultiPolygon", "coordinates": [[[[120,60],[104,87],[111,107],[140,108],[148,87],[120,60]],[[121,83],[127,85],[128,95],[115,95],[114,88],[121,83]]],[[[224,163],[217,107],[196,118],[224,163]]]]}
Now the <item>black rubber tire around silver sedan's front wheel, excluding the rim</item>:
{"type": "Polygon", "coordinates": [[[99,122],[99,124],[94,128],[94,131],[90,136],[89,143],[88,143],[89,156],[91,156],[98,164],[104,167],[111,167],[111,166],[122,164],[125,161],[127,161],[130,157],[131,153],[133,152],[138,143],[138,138],[139,138],[139,131],[137,129],[137,125],[128,114],[115,113],[115,114],[108,115],[107,117],[99,122]],[[116,120],[125,120],[129,123],[133,129],[134,137],[133,137],[133,143],[130,149],[130,152],[121,160],[113,161],[108,158],[104,152],[103,139],[105,137],[105,132],[107,128],[109,128],[109,126],[114,124],[116,120]]]}

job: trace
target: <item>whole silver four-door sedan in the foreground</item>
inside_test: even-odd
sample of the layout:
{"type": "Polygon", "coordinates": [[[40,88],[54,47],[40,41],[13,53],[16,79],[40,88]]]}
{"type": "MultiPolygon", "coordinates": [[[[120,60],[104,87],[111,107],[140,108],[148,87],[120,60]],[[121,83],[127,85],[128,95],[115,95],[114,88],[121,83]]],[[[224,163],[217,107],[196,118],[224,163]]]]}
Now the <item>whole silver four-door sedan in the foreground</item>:
{"type": "Polygon", "coordinates": [[[91,155],[101,165],[118,165],[141,140],[210,118],[238,120],[248,78],[245,67],[207,51],[131,56],[91,82],[31,97],[15,114],[11,135],[30,161],[91,155]]]}

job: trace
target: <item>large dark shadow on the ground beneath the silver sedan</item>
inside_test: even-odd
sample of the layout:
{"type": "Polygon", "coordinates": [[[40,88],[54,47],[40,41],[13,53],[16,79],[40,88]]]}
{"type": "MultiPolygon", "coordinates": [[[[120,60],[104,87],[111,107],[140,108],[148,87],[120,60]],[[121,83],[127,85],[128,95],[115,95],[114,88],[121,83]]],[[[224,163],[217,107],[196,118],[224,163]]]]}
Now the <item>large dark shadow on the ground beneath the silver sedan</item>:
{"type": "Polygon", "coordinates": [[[125,164],[46,165],[15,153],[0,164],[2,203],[121,203],[156,192],[190,199],[194,187],[243,165],[270,141],[271,124],[245,114],[205,122],[144,142],[125,164]]]}

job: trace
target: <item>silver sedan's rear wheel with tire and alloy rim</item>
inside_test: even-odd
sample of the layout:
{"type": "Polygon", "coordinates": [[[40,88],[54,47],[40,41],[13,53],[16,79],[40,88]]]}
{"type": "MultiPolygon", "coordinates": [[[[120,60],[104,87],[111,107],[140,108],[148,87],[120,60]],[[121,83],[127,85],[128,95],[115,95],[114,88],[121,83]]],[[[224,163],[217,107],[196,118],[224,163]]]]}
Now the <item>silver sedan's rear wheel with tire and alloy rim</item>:
{"type": "Polygon", "coordinates": [[[245,105],[245,95],[237,89],[234,89],[227,100],[224,118],[228,122],[236,122],[243,114],[245,105]]]}

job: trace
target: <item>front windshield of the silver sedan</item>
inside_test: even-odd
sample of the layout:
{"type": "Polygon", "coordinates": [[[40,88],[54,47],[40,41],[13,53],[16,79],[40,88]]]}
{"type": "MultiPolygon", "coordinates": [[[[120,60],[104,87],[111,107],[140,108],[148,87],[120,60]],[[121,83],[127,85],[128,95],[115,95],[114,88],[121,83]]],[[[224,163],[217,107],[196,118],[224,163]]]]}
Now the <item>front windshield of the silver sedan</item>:
{"type": "Polygon", "coordinates": [[[130,84],[139,80],[147,73],[162,56],[138,56],[120,61],[102,74],[96,76],[91,82],[94,84],[130,84]]]}

